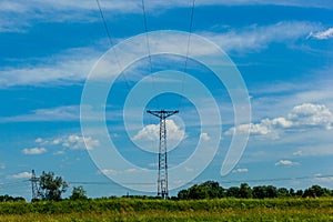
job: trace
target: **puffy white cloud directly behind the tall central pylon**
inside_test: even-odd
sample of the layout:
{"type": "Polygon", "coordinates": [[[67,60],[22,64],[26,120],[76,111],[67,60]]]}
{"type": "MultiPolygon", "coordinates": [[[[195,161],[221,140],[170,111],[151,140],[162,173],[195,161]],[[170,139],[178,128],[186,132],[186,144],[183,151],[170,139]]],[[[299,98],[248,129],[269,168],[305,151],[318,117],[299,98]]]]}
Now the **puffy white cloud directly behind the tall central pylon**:
{"type": "MultiPolygon", "coordinates": [[[[180,141],[185,137],[185,131],[175,124],[173,120],[165,120],[168,140],[180,141]]],[[[132,139],[155,141],[160,138],[160,124],[148,124],[141,129],[132,139]]]]}

